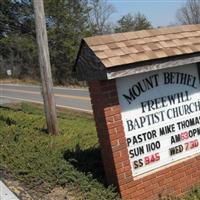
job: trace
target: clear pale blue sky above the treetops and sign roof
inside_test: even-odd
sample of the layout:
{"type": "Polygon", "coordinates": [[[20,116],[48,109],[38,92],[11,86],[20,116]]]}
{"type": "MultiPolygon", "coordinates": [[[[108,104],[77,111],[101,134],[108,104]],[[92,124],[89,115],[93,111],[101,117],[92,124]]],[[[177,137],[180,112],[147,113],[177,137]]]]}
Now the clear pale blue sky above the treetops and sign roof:
{"type": "Polygon", "coordinates": [[[176,11],[186,0],[107,0],[114,5],[116,13],[111,16],[113,22],[117,22],[128,13],[144,14],[154,27],[175,24],[176,11]]]}

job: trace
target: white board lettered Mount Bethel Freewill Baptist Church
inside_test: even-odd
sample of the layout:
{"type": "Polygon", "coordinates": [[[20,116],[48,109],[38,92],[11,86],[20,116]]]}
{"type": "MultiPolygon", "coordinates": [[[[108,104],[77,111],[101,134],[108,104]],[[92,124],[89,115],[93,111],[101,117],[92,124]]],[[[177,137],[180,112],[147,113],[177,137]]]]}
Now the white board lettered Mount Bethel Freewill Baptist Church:
{"type": "Polygon", "coordinates": [[[133,176],[200,153],[197,65],[117,79],[133,176]]]}

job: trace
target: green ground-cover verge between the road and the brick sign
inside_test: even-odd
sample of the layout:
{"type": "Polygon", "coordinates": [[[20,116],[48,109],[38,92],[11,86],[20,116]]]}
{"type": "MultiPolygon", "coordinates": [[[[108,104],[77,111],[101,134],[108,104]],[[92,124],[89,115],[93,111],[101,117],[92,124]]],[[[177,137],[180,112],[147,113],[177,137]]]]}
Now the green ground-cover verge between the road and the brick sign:
{"type": "Polygon", "coordinates": [[[41,194],[63,186],[77,194],[76,199],[119,199],[113,187],[103,184],[92,117],[60,113],[59,127],[59,136],[48,135],[38,107],[0,107],[0,170],[41,194]]]}

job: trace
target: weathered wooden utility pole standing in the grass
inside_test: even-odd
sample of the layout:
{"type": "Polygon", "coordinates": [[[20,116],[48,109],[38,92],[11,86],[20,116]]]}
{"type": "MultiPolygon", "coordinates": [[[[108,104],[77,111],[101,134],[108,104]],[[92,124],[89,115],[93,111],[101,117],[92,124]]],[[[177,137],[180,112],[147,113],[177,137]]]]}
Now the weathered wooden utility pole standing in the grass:
{"type": "Polygon", "coordinates": [[[55,98],[53,94],[53,81],[51,74],[51,64],[49,59],[49,47],[46,31],[43,0],[33,0],[35,13],[36,36],[39,50],[39,64],[42,79],[42,94],[44,99],[44,109],[47,121],[48,132],[58,134],[58,122],[56,114],[55,98]]]}

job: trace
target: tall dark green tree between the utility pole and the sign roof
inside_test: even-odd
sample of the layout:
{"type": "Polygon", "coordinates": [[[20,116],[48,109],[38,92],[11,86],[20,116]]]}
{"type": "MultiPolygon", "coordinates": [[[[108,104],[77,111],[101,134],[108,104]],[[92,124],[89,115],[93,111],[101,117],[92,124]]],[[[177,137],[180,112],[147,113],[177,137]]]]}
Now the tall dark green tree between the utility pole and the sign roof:
{"type": "Polygon", "coordinates": [[[54,81],[76,83],[72,67],[83,37],[90,36],[86,0],[46,0],[48,38],[54,81]]]}

